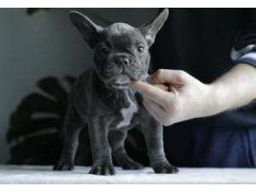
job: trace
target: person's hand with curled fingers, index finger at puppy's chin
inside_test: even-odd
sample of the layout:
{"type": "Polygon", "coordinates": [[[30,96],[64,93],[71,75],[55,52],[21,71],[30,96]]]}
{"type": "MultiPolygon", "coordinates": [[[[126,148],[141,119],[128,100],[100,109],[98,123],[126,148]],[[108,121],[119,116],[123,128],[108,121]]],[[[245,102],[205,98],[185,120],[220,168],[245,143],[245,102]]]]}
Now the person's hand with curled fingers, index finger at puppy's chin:
{"type": "Polygon", "coordinates": [[[212,86],[180,70],[160,69],[131,88],[143,95],[143,105],[163,125],[217,113],[212,86]]]}

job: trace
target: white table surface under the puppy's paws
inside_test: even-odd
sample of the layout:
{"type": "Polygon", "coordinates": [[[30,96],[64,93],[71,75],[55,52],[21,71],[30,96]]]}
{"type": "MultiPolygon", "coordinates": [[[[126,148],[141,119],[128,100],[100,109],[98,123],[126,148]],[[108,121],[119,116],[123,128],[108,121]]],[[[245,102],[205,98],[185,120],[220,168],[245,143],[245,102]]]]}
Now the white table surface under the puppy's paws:
{"type": "Polygon", "coordinates": [[[0,183],[256,183],[256,169],[179,168],[177,174],[154,174],[146,167],[114,176],[88,174],[90,167],[76,166],[71,172],[54,172],[52,166],[0,166],[0,183]]]}

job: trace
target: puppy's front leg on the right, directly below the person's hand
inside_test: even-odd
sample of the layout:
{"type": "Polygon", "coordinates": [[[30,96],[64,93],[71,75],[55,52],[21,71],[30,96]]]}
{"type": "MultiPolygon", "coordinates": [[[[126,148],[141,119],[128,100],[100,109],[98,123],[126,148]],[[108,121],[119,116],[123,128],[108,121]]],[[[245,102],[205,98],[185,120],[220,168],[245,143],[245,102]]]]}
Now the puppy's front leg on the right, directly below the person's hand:
{"type": "Polygon", "coordinates": [[[163,126],[153,118],[143,125],[143,135],[148,146],[150,166],[155,173],[176,173],[177,167],[166,160],[163,143],[163,126]]]}

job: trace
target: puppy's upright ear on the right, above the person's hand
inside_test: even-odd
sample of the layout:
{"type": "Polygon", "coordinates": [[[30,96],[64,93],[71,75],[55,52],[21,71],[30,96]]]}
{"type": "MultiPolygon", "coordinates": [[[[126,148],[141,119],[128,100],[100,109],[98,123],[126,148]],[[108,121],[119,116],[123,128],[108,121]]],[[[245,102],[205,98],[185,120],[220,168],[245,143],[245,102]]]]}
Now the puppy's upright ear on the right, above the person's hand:
{"type": "Polygon", "coordinates": [[[143,33],[143,36],[146,38],[148,42],[148,46],[151,46],[154,44],[154,39],[157,34],[157,32],[160,31],[160,28],[164,25],[166,22],[166,19],[169,15],[169,10],[164,9],[160,15],[156,16],[154,20],[151,20],[146,25],[139,27],[141,32],[143,33]]]}

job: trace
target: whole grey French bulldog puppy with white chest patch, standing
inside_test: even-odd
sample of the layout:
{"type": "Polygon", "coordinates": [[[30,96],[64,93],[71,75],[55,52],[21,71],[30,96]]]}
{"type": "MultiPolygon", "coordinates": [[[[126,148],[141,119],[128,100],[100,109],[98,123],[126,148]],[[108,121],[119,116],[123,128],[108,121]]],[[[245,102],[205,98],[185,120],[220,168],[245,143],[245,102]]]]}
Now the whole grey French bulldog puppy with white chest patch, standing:
{"type": "Polygon", "coordinates": [[[102,27],[79,12],[70,13],[74,26],[95,50],[95,65],[77,79],[71,90],[63,149],[54,170],[73,169],[79,132],[84,125],[89,127],[91,174],[113,175],[112,153],[123,169],[142,168],[131,160],[124,147],[127,131],[139,125],[154,172],[178,171],[166,160],[162,125],[143,107],[142,96],[128,86],[132,81],[144,81],[148,77],[148,49],[167,17],[168,9],[164,9],[140,28],[125,23],[102,27]]]}

